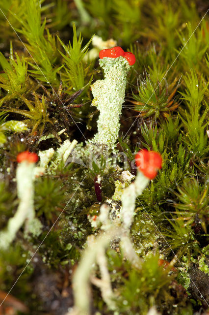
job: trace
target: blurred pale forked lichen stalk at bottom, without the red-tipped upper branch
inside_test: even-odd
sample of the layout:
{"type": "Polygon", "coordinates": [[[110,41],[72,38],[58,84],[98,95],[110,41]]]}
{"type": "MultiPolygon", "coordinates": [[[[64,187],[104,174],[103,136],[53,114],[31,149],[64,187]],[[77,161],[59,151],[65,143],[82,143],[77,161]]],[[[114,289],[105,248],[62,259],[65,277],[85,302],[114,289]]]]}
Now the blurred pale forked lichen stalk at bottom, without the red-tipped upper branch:
{"type": "Polygon", "coordinates": [[[140,269],[142,260],[137,256],[132,246],[130,236],[123,227],[116,227],[115,224],[108,219],[109,207],[102,205],[101,221],[104,221],[102,226],[104,233],[95,237],[91,235],[87,240],[87,247],[82,254],[80,263],[73,278],[75,306],[70,313],[66,315],[89,315],[90,314],[90,281],[100,287],[104,302],[110,310],[115,309],[113,301],[113,292],[110,283],[110,276],[107,269],[104,250],[108,244],[114,239],[120,239],[120,246],[124,252],[124,256],[131,264],[140,269]],[[101,280],[92,278],[92,269],[98,263],[101,280]],[[80,298],[82,296],[82,299],[80,298]]]}

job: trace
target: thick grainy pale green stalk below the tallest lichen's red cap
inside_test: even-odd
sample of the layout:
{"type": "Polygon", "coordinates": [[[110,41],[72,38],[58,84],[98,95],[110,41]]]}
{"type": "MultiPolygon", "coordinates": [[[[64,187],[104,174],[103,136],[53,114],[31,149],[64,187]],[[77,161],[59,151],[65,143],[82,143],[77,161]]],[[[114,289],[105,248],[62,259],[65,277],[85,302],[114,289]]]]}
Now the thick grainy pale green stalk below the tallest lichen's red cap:
{"type": "Polygon", "coordinates": [[[97,80],[91,85],[94,96],[92,105],[100,111],[97,121],[98,133],[91,142],[106,145],[114,151],[120,128],[119,120],[125,97],[127,72],[131,67],[122,56],[104,57],[99,63],[104,69],[104,80],[97,80]]]}

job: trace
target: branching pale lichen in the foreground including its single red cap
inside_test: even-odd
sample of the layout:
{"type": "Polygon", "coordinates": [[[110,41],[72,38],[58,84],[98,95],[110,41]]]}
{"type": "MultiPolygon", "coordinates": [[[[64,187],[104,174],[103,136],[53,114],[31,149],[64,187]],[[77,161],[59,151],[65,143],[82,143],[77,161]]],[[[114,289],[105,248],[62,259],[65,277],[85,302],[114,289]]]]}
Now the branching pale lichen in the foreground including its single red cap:
{"type": "MultiPolygon", "coordinates": [[[[104,262],[105,259],[102,259],[102,261],[99,259],[98,261],[98,255],[102,255],[101,253],[104,253],[104,250],[110,241],[119,239],[124,256],[136,269],[141,269],[142,260],[136,254],[130,239],[130,228],[133,221],[135,200],[148,185],[150,177],[154,175],[156,176],[157,169],[161,167],[161,157],[156,152],[145,152],[143,157],[147,159],[143,161],[143,165],[140,165],[141,171],[137,172],[135,181],[127,188],[123,189],[123,193],[121,194],[121,216],[117,216],[119,217],[119,222],[117,219],[110,220],[110,208],[107,205],[102,205],[101,214],[99,216],[95,215],[90,220],[93,227],[99,227],[100,224],[102,224],[100,227],[105,232],[101,233],[98,237],[91,235],[91,237],[89,237],[90,242],[88,241],[87,248],[83,252],[80,264],[74,277],[75,308],[71,313],[73,315],[89,314],[89,278],[92,265],[94,265],[94,262],[96,261],[100,266],[102,278],[105,278],[105,281],[104,279],[102,279],[103,281],[99,281],[104,301],[108,305],[109,309],[114,309],[114,304],[110,298],[111,286],[106,264],[104,262]],[[148,170],[146,168],[148,168],[148,170]],[[145,172],[146,176],[142,172],[145,172]],[[104,286],[106,287],[105,293],[104,286]],[[80,295],[83,297],[82,302],[80,302],[80,295]]],[[[128,177],[125,176],[125,178],[127,177],[128,180],[130,180],[130,175],[128,177]]],[[[97,283],[98,281],[94,281],[94,284],[97,283]]]]}

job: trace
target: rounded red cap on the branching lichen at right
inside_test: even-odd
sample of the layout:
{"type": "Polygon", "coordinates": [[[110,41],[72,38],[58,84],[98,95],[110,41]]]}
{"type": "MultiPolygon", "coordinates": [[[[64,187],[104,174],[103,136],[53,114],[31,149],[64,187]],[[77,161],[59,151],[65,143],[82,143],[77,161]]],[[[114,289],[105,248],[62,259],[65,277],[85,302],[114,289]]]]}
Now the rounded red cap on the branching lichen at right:
{"type": "Polygon", "coordinates": [[[162,167],[162,158],[155,151],[140,150],[135,156],[135,161],[138,169],[149,179],[154,179],[162,167]]]}

